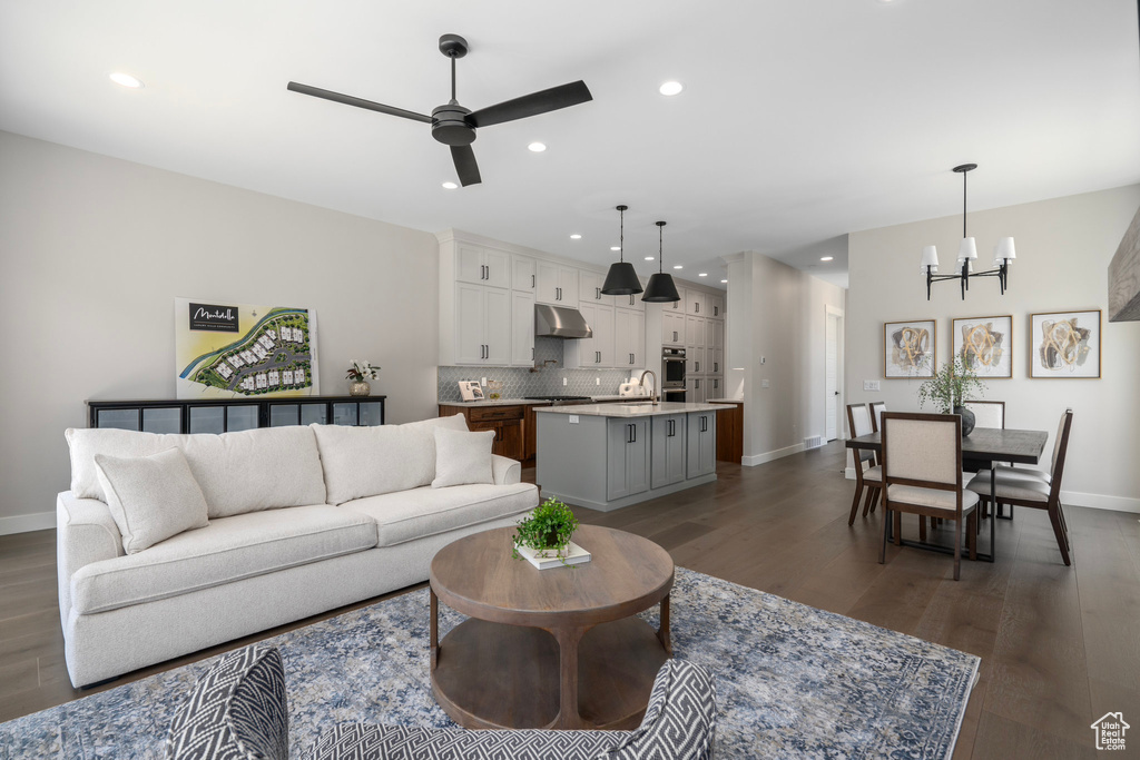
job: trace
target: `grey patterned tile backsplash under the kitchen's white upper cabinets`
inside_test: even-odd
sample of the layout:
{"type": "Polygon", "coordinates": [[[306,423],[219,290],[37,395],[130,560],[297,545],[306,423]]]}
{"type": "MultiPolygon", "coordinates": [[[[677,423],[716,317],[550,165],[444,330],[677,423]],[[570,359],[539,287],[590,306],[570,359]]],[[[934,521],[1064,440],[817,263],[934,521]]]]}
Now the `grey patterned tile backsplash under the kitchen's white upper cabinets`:
{"type": "MultiPolygon", "coordinates": [[[[617,395],[618,385],[627,377],[637,378],[644,367],[637,369],[567,369],[563,363],[565,341],[556,337],[535,338],[535,363],[543,369],[536,373],[527,367],[440,367],[438,374],[439,400],[458,401],[462,379],[486,377],[502,381],[504,399],[522,399],[528,395],[617,395]],[[556,365],[545,365],[554,360],[556,365]],[[567,384],[562,384],[562,378],[567,384]],[[598,383],[597,381],[601,381],[598,383]]],[[[651,382],[646,379],[646,382],[651,382]]],[[[486,389],[483,391],[487,392],[486,389]]]]}

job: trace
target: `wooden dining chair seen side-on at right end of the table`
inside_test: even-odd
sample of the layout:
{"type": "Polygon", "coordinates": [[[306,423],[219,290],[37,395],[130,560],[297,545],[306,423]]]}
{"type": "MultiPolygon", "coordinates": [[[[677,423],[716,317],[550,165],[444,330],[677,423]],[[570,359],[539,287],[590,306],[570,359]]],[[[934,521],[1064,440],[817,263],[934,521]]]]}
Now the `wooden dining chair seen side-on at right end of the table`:
{"type": "Polygon", "coordinates": [[[1053,526],[1057,548],[1061,550],[1061,559],[1069,562],[1073,550],[1068,540],[1068,524],[1065,522],[1065,510],[1061,506],[1061,475],[1065,472],[1065,453],[1068,450],[1069,428],[1073,426],[1073,410],[1066,409],[1058,424],[1057,438],[1053,439],[1053,456],[1049,473],[1028,467],[994,467],[994,490],[990,493],[990,471],[979,469],[967,488],[977,493],[983,502],[996,500],[1018,507],[1033,507],[1049,513],[1049,522],[1053,526]]]}

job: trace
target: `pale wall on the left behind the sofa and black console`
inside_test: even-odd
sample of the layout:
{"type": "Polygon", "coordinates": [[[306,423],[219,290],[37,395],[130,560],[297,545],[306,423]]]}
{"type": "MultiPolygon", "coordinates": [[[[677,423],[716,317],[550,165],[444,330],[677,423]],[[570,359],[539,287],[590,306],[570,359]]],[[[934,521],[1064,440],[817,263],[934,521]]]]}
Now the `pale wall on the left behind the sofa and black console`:
{"type": "Polygon", "coordinates": [[[434,416],[438,255],[426,232],[0,132],[0,533],[46,526],[13,516],[55,509],[85,399],[173,397],[176,296],[316,309],[323,393],[368,359],[390,422],[434,416]]]}

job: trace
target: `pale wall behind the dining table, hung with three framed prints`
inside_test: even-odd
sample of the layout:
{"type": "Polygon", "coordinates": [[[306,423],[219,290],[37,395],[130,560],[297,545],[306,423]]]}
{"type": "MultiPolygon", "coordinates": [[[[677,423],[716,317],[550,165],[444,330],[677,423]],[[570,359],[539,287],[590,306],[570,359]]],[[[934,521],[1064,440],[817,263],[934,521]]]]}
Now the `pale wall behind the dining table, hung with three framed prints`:
{"type": "Polygon", "coordinates": [[[1101,379],[1028,379],[1029,314],[1107,309],[1108,262],[1138,205],[1140,185],[1134,185],[970,213],[984,268],[1002,236],[1016,238],[1018,258],[1005,295],[987,278],[971,283],[966,301],[956,285],[936,284],[927,302],[919,273],[923,245],[937,245],[943,260],[956,255],[960,215],[852,232],[849,400],[881,399],[891,410],[918,409],[919,381],[882,379],[881,393],[863,391],[864,379],[882,378],[885,321],[937,319],[940,365],[953,351],[952,318],[1012,314],[1013,378],[990,381],[985,398],[1005,401],[1007,427],[1049,431],[1045,456],[1061,411],[1072,407],[1066,502],[1140,512],[1140,322],[1109,324],[1102,317],[1101,379]]]}

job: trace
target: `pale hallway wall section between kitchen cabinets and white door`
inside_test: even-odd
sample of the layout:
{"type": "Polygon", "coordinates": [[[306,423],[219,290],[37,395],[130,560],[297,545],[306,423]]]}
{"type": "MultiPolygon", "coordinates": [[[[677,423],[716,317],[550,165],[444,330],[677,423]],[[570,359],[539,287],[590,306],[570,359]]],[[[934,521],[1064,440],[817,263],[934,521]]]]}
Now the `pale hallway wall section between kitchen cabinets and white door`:
{"type": "Polygon", "coordinates": [[[824,435],[826,308],[842,311],[845,291],[756,252],[727,261],[726,363],[744,367],[743,463],[756,465],[824,435]]]}

